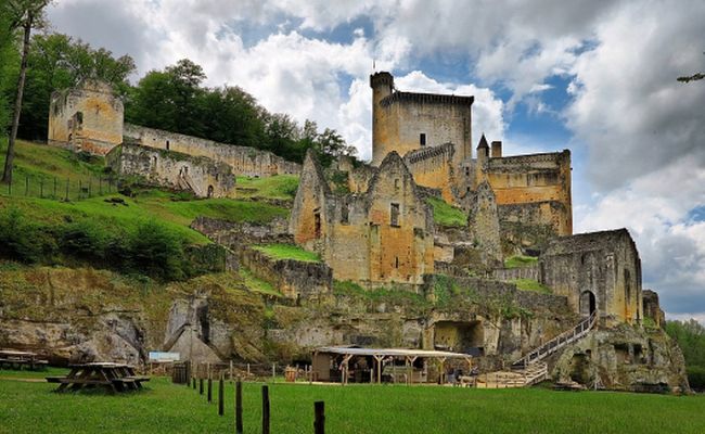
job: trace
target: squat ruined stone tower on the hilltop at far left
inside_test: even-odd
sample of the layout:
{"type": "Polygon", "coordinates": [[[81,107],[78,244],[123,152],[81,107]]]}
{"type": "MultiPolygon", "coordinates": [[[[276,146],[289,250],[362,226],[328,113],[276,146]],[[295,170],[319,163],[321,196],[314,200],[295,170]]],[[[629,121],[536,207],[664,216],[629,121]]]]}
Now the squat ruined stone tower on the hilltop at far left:
{"type": "Polygon", "coordinates": [[[105,155],[123,142],[123,100],[103,81],[84,80],[54,91],[49,103],[50,145],[105,155]]]}

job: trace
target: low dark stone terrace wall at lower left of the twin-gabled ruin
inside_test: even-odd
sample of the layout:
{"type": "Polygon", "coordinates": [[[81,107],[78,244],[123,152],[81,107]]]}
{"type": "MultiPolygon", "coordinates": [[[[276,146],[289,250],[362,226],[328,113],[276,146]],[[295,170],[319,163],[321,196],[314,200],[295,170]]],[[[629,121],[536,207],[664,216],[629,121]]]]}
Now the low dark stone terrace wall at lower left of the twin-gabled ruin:
{"type": "Polygon", "coordinates": [[[325,264],[272,259],[255,248],[241,250],[240,264],[293,299],[315,302],[333,286],[333,270],[325,264]]]}

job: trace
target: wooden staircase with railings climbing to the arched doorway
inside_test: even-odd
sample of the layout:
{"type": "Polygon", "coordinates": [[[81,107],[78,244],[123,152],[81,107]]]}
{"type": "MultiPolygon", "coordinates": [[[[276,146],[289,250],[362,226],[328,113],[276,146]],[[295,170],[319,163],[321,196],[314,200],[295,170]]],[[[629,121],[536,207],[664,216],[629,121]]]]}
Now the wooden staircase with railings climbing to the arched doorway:
{"type": "Polygon", "coordinates": [[[565,346],[586,336],[598,321],[598,312],[580,321],[572,330],[562,333],[526,356],[514,361],[510,371],[484,373],[477,376],[478,388],[525,387],[539,383],[548,378],[548,365],[541,361],[565,346]]]}

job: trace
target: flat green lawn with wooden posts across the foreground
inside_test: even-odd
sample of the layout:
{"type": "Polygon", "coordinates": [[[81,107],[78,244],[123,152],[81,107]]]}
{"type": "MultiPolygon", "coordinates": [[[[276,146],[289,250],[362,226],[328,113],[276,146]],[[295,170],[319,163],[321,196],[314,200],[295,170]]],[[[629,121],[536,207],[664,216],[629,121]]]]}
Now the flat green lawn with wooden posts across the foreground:
{"type": "MultiPolygon", "coordinates": [[[[53,384],[0,380],[0,433],[228,433],[205,396],[166,379],[137,394],[54,394],[53,384]]],[[[246,433],[260,431],[260,384],[243,387],[246,433]]],[[[469,390],[270,384],[271,432],[311,433],[325,401],[326,432],[358,433],[702,433],[705,398],[541,388],[469,390]]],[[[214,393],[214,397],[217,394],[214,393]]]]}

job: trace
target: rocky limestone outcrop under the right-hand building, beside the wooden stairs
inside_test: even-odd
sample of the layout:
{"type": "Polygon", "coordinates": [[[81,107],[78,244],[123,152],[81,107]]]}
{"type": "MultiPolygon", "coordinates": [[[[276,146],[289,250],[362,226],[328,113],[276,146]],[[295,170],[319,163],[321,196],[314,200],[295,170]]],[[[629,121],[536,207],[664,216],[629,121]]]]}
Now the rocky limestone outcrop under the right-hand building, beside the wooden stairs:
{"type": "Polygon", "coordinates": [[[556,381],[613,391],[690,391],[678,344],[661,329],[627,324],[592,331],[567,347],[552,374],[556,381]]]}

